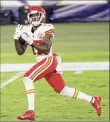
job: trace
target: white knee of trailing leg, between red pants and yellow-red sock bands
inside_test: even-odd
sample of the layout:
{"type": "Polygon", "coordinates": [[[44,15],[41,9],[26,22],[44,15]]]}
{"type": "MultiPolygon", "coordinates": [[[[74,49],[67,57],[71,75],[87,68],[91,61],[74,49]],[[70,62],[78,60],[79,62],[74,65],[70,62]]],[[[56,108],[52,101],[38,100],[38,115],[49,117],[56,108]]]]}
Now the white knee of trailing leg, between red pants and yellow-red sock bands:
{"type": "Polygon", "coordinates": [[[75,91],[75,88],[70,88],[68,86],[65,86],[61,90],[60,95],[68,96],[68,97],[73,97],[74,91],[75,91]]]}

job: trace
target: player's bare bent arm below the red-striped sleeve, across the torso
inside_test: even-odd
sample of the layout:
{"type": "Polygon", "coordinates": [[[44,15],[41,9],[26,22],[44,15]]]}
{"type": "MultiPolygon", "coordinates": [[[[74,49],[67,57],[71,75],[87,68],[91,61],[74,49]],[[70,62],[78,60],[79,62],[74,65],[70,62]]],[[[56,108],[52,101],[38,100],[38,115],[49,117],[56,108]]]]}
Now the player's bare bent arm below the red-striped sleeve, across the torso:
{"type": "Polygon", "coordinates": [[[36,42],[34,41],[31,44],[31,46],[36,48],[38,51],[47,55],[50,51],[52,40],[53,40],[53,34],[46,34],[42,39],[41,45],[37,45],[36,42]]]}

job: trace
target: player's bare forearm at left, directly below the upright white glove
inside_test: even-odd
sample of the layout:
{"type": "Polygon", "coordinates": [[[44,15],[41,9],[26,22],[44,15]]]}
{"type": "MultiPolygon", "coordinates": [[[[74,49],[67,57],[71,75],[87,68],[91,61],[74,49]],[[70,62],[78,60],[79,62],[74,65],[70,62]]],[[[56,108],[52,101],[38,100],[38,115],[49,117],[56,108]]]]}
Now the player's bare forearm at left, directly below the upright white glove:
{"type": "Polygon", "coordinates": [[[25,44],[24,46],[19,43],[19,40],[14,40],[15,43],[15,49],[18,55],[23,55],[26,48],[27,48],[27,44],[25,44]]]}

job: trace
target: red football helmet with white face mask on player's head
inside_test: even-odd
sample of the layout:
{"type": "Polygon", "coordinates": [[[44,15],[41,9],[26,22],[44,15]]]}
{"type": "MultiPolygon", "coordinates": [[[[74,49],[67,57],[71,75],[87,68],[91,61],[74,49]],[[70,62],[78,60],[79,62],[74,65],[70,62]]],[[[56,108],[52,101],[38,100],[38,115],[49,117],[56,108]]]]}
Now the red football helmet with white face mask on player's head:
{"type": "Polygon", "coordinates": [[[45,22],[46,13],[45,10],[40,6],[31,6],[28,13],[28,21],[33,26],[38,26],[45,22]]]}

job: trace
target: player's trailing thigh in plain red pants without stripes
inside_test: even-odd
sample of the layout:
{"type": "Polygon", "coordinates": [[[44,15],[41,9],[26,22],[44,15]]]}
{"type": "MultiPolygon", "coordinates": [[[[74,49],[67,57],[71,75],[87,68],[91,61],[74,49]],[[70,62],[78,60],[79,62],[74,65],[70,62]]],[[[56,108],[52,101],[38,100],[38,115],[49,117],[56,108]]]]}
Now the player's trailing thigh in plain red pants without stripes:
{"type": "Polygon", "coordinates": [[[65,87],[65,81],[60,74],[53,72],[45,77],[46,81],[52,86],[52,88],[60,93],[61,90],[65,87]]]}

